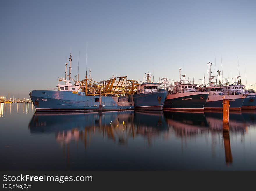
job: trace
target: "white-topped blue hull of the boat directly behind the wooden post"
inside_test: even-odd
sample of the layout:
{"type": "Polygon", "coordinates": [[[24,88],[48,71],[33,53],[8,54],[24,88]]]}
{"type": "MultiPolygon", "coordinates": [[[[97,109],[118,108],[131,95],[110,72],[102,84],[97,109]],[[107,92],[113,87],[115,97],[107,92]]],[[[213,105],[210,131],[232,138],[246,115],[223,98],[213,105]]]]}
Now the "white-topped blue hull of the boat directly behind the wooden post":
{"type": "Polygon", "coordinates": [[[225,98],[223,98],[223,95],[213,95],[207,98],[207,101],[205,103],[205,110],[222,110],[223,99],[229,99],[230,110],[241,110],[243,102],[245,100],[243,94],[225,95],[225,98]]]}

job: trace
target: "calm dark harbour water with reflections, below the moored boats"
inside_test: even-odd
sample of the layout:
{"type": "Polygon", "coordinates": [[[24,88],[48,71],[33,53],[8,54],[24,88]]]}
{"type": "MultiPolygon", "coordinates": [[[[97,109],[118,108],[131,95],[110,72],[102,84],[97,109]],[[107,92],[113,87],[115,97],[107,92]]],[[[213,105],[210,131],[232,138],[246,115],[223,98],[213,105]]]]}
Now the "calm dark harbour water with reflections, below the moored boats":
{"type": "Polygon", "coordinates": [[[1,103],[1,170],[256,170],[256,111],[35,113],[1,103]],[[230,135],[230,136],[229,136],[230,135]]]}

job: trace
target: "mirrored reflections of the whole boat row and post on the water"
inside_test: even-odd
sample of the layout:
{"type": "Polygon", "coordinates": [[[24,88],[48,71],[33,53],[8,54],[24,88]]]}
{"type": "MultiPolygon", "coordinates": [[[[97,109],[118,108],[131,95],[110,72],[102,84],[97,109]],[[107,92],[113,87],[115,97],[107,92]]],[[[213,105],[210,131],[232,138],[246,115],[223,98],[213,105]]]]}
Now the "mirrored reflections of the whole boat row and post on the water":
{"type": "Polygon", "coordinates": [[[221,145],[224,147],[222,152],[229,166],[233,161],[230,134],[241,135],[243,143],[247,126],[255,123],[255,117],[255,112],[230,113],[230,133],[223,133],[221,112],[35,113],[29,130],[32,134],[54,133],[56,142],[66,149],[67,158],[71,142],[83,142],[86,149],[93,139],[107,139],[127,147],[132,139],[143,138],[152,147],[154,140],[168,140],[174,133],[180,138],[183,152],[191,140],[203,137],[211,144],[212,158],[218,156],[221,145]]]}

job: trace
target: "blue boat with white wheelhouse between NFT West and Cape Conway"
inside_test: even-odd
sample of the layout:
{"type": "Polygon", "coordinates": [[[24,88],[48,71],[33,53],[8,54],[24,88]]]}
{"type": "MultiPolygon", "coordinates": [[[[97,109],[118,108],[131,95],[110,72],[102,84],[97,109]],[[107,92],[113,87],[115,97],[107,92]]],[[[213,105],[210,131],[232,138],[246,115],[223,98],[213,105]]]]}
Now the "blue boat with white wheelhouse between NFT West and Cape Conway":
{"type": "Polygon", "coordinates": [[[150,82],[150,73],[147,82],[137,85],[137,92],[133,95],[135,110],[162,110],[167,91],[159,88],[161,83],[150,82]]]}

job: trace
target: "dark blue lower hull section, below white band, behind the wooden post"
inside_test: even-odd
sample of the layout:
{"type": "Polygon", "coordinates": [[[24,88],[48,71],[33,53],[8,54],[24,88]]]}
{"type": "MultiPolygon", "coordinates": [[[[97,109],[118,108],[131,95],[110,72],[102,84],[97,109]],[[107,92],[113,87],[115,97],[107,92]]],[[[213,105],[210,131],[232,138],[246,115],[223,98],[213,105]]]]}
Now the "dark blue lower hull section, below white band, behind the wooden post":
{"type": "MultiPolygon", "coordinates": [[[[230,103],[230,109],[234,109],[234,110],[239,110],[241,109],[243,102],[244,102],[244,98],[239,98],[239,99],[230,99],[229,103],[230,103]]],[[[222,104],[222,100],[218,100],[218,101],[207,101],[205,103],[205,109],[222,109],[223,104],[222,104]]]]}

